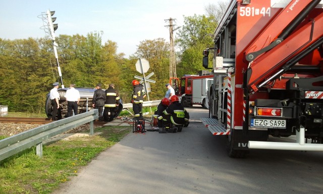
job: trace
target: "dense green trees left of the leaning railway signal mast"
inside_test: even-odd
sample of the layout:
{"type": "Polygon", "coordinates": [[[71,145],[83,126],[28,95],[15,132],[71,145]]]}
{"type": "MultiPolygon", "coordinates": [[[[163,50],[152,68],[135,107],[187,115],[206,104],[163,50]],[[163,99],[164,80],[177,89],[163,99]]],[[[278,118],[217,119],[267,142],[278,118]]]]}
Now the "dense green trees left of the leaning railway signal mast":
{"type": "MultiPolygon", "coordinates": [[[[2,44],[4,42],[1,42],[2,44]]],[[[1,56],[0,102],[10,111],[41,112],[46,96],[44,88],[50,75],[38,41],[33,38],[5,41],[1,56]]],[[[1,47],[1,46],[0,46],[1,47]]]]}

